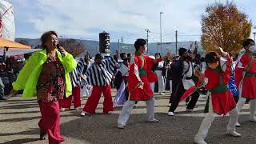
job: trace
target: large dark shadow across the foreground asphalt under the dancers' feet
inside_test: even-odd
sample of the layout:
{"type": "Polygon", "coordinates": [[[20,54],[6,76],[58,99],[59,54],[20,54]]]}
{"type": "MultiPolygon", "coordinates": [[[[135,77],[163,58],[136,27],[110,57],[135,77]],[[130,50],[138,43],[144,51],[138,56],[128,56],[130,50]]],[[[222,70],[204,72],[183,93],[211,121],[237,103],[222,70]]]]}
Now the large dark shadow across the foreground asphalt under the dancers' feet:
{"type": "MultiPolygon", "coordinates": [[[[251,143],[256,141],[253,122],[248,115],[241,116],[242,127],[238,132],[242,138],[226,135],[226,124],[229,117],[218,117],[211,126],[207,142],[210,143],[251,143]]],[[[94,114],[63,123],[62,134],[92,143],[193,143],[202,118],[156,114],[159,123],[144,122],[146,114],[130,116],[126,129],[117,128],[117,114],[94,114]],[[97,119],[97,120],[96,120],[97,119]]]]}

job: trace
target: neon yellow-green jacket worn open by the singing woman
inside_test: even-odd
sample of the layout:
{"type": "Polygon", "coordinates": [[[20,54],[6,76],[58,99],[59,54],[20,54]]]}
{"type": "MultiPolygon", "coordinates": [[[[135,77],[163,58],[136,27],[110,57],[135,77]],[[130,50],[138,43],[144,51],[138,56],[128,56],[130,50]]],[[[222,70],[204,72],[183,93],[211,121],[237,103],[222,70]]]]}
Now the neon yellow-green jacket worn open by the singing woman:
{"type": "MultiPolygon", "coordinates": [[[[62,62],[65,69],[66,97],[72,94],[72,86],[70,82],[69,72],[74,70],[77,62],[71,54],[66,53],[64,57],[57,51],[58,59],[62,62]]],[[[14,90],[24,90],[22,98],[32,98],[37,94],[38,78],[42,71],[42,65],[46,62],[46,49],[34,52],[25,66],[18,74],[16,82],[13,82],[14,90]]]]}

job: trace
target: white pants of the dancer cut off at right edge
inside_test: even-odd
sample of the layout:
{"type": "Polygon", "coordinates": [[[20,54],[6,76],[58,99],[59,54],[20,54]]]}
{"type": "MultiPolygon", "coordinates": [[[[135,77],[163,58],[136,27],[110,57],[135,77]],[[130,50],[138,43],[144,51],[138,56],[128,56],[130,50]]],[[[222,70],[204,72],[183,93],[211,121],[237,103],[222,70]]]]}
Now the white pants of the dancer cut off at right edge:
{"type": "MultiPolygon", "coordinates": [[[[239,98],[238,100],[238,112],[241,112],[242,106],[246,103],[246,98],[239,98]]],[[[250,99],[250,118],[254,118],[256,114],[256,99],[250,99]]]]}

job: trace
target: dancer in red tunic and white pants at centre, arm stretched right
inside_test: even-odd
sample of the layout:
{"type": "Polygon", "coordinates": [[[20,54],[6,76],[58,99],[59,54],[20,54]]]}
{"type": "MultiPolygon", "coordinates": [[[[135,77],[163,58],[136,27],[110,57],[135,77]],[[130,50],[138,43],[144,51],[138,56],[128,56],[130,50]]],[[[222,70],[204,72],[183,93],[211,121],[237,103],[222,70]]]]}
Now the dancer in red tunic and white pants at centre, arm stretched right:
{"type": "Polygon", "coordinates": [[[134,42],[135,54],[130,59],[130,71],[128,76],[128,92],[130,93],[128,101],[122,107],[122,112],[118,118],[118,128],[124,129],[130,116],[135,101],[145,101],[147,107],[146,122],[159,122],[154,118],[154,93],[150,88],[150,82],[155,82],[158,77],[151,71],[154,63],[161,62],[169,58],[167,53],[164,58],[150,58],[144,52],[146,51],[146,40],[139,38],[134,42]]]}

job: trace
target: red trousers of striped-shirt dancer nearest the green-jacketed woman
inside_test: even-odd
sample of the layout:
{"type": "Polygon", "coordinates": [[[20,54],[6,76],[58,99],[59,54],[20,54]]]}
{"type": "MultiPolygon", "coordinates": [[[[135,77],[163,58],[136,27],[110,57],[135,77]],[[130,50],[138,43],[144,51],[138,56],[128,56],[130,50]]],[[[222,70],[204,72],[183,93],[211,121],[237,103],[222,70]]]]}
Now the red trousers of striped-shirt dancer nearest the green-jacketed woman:
{"type": "Polygon", "coordinates": [[[74,102],[74,108],[81,106],[81,98],[80,98],[80,86],[76,86],[72,90],[72,95],[70,95],[68,98],[62,99],[62,108],[70,109],[71,102],[74,102]]]}

